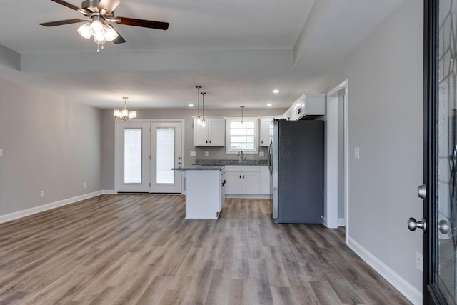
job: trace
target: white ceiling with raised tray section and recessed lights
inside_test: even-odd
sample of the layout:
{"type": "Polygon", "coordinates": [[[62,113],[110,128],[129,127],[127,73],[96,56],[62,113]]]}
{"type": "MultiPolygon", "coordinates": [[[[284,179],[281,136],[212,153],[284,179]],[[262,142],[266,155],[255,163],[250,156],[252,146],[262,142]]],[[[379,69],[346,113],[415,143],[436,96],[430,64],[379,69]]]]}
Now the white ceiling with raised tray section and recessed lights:
{"type": "MultiPolygon", "coordinates": [[[[66,0],[76,6],[79,1],[66,0]]],[[[114,25],[125,44],[79,36],[82,16],[51,0],[2,0],[0,77],[102,109],[290,106],[402,0],[124,0],[116,16],[169,22],[114,25]],[[272,94],[272,89],[280,89],[272,94]]]]}

